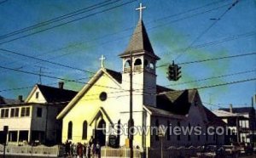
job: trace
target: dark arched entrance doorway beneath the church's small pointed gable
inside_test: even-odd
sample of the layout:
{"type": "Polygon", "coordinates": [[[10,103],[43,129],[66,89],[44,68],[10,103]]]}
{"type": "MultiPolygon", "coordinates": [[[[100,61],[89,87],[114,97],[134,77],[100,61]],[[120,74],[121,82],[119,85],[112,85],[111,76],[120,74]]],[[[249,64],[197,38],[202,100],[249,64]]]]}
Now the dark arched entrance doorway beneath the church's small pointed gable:
{"type": "Polygon", "coordinates": [[[96,143],[99,142],[101,146],[106,144],[106,122],[102,119],[99,121],[98,126],[95,131],[96,143]]]}

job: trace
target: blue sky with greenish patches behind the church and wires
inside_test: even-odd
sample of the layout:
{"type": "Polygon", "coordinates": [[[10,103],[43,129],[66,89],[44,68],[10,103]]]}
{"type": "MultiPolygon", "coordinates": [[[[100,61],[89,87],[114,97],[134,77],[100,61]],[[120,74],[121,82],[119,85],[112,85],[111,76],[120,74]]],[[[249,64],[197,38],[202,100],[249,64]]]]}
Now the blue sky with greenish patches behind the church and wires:
{"type": "MultiPolygon", "coordinates": [[[[231,0],[158,0],[158,1],[67,1],[67,0],[7,0],[0,3],[0,48],[20,54],[47,59],[63,65],[97,71],[100,67],[99,58],[106,56],[106,67],[121,71],[122,53],[128,45],[132,31],[137,24],[138,12],[135,8],[143,3],[147,8],[143,11],[143,21],[154,48],[160,56],[157,65],[175,60],[176,63],[200,59],[212,59],[236,54],[256,52],[256,1],[241,0],[233,8],[224,12],[235,1],[231,0]],[[102,8],[91,9],[66,20],[60,20],[20,34],[1,38],[10,32],[27,26],[72,13],[81,8],[97,3],[111,3],[102,8]],[[115,8],[122,3],[127,3],[115,8]],[[106,10],[108,8],[108,11],[106,10]],[[89,17],[90,14],[93,14],[89,17]],[[221,14],[224,16],[216,21],[221,14]],[[76,20],[81,18],[81,20],[76,20]],[[215,20],[214,20],[215,19],[215,20]],[[47,31],[42,31],[61,25],[47,31]],[[215,23],[213,25],[213,23],[215,23]],[[211,27],[212,25],[212,27],[211,27]],[[210,28],[207,30],[207,28],[210,28]],[[39,33],[35,33],[41,31],[39,33]],[[33,34],[28,37],[23,37],[33,34]],[[20,38],[22,37],[22,38],[20,38]],[[20,38],[13,40],[15,38],[20,38]],[[12,41],[13,40],[13,41],[12,41]],[[212,42],[212,45],[207,43],[212,42]],[[190,47],[189,47],[190,46],[190,47]],[[201,46],[201,47],[199,47],[201,46]],[[183,48],[188,48],[183,51],[183,48]]],[[[185,89],[204,87],[225,82],[247,80],[256,76],[256,55],[239,58],[218,59],[182,66],[182,78],[178,82],[166,79],[166,67],[157,69],[160,85],[172,85],[171,88],[185,89]],[[250,71],[240,75],[225,76],[237,72],[250,71]],[[203,82],[190,82],[213,76],[218,77],[203,82]],[[187,84],[181,84],[189,82],[187,84]],[[173,85],[177,84],[177,85],[173,85]]],[[[0,65],[22,71],[39,72],[44,75],[58,76],[65,79],[79,79],[90,76],[89,73],[67,69],[49,63],[39,62],[15,54],[0,51],[0,65]]],[[[87,82],[86,79],[82,80],[87,82]]],[[[31,88],[3,91],[17,87],[32,87],[39,82],[39,76],[32,76],[16,71],[0,69],[0,95],[6,98],[26,96],[31,88]]],[[[57,79],[42,77],[43,84],[58,82],[57,79]]],[[[56,85],[56,83],[55,83],[56,85]]],[[[79,90],[83,85],[67,82],[65,87],[79,90]]],[[[200,89],[201,99],[207,107],[250,106],[251,98],[256,93],[256,82],[241,82],[222,87],[200,89]]]]}

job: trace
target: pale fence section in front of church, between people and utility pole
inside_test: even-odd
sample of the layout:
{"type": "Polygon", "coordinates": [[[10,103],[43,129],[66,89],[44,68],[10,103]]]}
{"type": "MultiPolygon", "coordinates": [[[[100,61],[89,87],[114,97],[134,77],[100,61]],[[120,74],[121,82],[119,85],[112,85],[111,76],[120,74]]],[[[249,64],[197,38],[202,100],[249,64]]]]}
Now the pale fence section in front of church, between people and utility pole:
{"type": "MultiPolygon", "coordinates": [[[[101,157],[108,158],[108,157],[130,157],[131,151],[129,148],[119,148],[113,149],[110,147],[102,147],[101,150],[101,157]]],[[[133,157],[140,158],[141,152],[140,150],[133,150],[133,157]]]]}

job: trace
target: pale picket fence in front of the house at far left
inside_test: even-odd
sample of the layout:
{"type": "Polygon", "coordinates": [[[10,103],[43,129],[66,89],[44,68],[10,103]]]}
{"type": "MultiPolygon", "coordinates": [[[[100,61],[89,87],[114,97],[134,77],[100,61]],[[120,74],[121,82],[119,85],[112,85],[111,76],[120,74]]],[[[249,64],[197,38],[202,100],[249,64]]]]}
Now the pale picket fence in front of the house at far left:
{"type": "MultiPolygon", "coordinates": [[[[44,145],[38,146],[15,146],[7,145],[5,148],[5,155],[29,155],[29,156],[48,156],[57,157],[64,153],[64,148],[60,145],[47,147],[44,145]]],[[[3,154],[3,145],[0,144],[0,154],[3,154]]]]}

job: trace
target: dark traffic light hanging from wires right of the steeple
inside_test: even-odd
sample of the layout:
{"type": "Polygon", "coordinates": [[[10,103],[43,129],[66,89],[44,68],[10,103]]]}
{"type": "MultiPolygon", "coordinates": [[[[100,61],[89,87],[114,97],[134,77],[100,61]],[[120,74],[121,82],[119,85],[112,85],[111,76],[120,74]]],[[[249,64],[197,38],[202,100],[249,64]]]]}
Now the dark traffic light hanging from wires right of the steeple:
{"type": "Polygon", "coordinates": [[[172,61],[172,65],[168,66],[167,78],[170,81],[176,82],[181,77],[181,67],[174,64],[172,61]]]}

